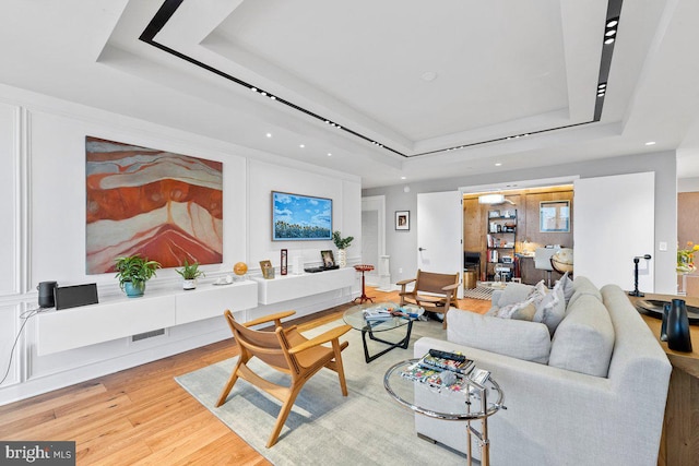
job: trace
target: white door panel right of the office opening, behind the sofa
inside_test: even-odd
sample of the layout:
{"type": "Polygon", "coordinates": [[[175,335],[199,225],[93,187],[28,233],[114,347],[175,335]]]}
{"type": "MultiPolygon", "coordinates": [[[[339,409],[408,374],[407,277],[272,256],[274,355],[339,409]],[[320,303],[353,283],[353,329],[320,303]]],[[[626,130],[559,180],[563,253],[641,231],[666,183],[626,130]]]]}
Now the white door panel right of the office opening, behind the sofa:
{"type": "Polygon", "coordinates": [[[654,186],[653,172],[576,180],[576,275],[632,290],[633,258],[650,254],[639,260],[639,290],[654,291],[654,186]]]}

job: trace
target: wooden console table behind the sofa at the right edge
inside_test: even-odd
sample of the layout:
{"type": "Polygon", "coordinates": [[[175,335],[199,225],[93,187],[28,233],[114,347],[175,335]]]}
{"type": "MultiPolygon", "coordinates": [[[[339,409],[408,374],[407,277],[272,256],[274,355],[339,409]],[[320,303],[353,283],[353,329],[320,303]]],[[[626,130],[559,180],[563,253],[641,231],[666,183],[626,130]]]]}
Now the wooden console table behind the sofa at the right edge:
{"type": "MultiPolygon", "coordinates": [[[[684,299],[687,304],[699,307],[699,298],[686,296],[647,294],[644,298],[629,297],[631,303],[639,299],[668,301],[673,298],[684,299]]],[[[641,316],[673,365],[657,464],[661,466],[697,464],[699,462],[699,326],[689,325],[694,351],[674,351],[667,347],[666,342],[660,342],[661,320],[644,313],[641,313],[641,316]]]]}

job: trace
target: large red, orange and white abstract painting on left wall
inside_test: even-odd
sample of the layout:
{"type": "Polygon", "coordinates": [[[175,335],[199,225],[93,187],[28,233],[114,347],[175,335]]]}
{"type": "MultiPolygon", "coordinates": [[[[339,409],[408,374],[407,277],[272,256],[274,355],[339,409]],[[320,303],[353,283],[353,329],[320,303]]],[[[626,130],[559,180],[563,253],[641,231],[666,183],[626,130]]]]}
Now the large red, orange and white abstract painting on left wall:
{"type": "Polygon", "coordinates": [[[85,138],[86,272],[141,254],[163,267],[223,262],[223,164],[85,138]]]}

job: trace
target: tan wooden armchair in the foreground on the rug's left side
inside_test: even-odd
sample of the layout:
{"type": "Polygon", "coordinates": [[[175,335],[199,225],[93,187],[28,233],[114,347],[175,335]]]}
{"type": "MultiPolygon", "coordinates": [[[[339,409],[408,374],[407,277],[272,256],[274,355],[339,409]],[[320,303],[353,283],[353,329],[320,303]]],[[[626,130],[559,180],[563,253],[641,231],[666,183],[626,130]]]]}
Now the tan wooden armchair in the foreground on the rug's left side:
{"type": "Polygon", "coordinates": [[[295,311],[280,312],[240,324],[236,322],[229,310],[224,312],[233,336],[240,347],[240,358],[226,386],[223,389],[223,392],[221,392],[216,407],[226,402],[228,393],[230,393],[230,389],[233,389],[238,378],[245,379],[282,402],[282,408],[276,418],[276,423],[266,442],[268,449],[276,443],[282,427],[284,422],[286,422],[296,396],[304,387],[304,384],[320,369],[325,367],[337,372],[342,394],[343,396],[347,396],[347,385],[342,367],[341,351],[347,347],[348,343],[343,342],[341,344],[339,338],[352,327],[350,325],[337,326],[324,332],[322,335],[307,339],[296,330],[296,325],[288,328],[282,327],[282,319],[293,315],[295,311]],[[249,328],[272,321],[275,326],[274,332],[249,328]],[[323,343],[332,343],[332,347],[321,346],[323,343]],[[253,357],[264,361],[273,369],[291,374],[291,385],[277,385],[254,373],[247,366],[247,362],[253,357]]]}

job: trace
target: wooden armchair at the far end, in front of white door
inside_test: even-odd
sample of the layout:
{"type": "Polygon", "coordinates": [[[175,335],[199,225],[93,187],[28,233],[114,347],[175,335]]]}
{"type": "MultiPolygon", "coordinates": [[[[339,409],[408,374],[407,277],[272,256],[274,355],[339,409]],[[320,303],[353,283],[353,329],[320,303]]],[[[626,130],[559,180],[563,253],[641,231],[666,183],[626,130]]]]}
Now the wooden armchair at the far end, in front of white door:
{"type": "Polygon", "coordinates": [[[443,313],[442,323],[447,328],[447,312],[452,303],[457,304],[459,274],[435,274],[418,268],[415,278],[401,280],[396,285],[401,286],[401,306],[407,301],[425,308],[426,312],[443,313]],[[405,286],[413,282],[415,287],[406,291],[405,286]]]}

